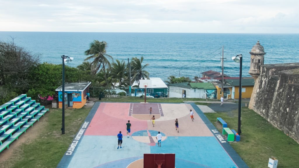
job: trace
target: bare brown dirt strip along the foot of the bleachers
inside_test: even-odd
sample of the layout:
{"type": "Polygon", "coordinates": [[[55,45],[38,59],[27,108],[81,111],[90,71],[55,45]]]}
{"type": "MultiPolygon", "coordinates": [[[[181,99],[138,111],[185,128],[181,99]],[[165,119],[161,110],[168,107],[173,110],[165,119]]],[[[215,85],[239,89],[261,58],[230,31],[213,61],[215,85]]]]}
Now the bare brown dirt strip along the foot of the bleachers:
{"type": "Polygon", "coordinates": [[[45,116],[41,117],[38,122],[33,124],[33,127],[28,128],[26,133],[24,132],[20,135],[18,140],[13,141],[13,143],[9,145],[9,149],[4,149],[0,153],[0,168],[13,167],[14,162],[11,161],[11,158],[14,158],[13,160],[22,158],[22,145],[24,143],[32,142],[36,139],[36,137],[41,135],[43,131],[41,128],[45,128],[48,123],[47,120],[48,118],[46,113],[45,116]]]}

